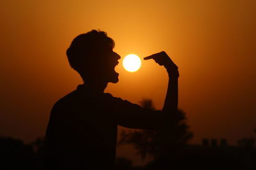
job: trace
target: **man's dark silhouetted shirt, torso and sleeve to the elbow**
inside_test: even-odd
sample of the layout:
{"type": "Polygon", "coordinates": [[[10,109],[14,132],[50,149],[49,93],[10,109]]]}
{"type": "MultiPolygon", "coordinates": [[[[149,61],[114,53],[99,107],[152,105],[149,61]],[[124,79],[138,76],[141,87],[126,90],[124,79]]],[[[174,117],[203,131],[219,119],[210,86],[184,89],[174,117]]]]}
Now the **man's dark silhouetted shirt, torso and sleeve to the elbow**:
{"type": "Polygon", "coordinates": [[[163,115],[78,85],[52,107],[45,169],[113,169],[117,125],[152,129],[161,124],[163,115]]]}

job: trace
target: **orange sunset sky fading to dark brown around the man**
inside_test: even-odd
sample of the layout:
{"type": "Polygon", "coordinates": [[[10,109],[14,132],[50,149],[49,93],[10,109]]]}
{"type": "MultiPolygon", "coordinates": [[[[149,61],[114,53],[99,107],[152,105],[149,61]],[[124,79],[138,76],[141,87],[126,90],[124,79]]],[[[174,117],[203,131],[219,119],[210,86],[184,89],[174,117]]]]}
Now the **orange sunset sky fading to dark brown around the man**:
{"type": "MultiPolygon", "coordinates": [[[[195,137],[237,139],[256,127],[256,1],[0,1],[0,135],[44,136],[52,105],[82,83],[65,51],[100,29],[122,56],[166,51],[179,66],[179,108],[195,137]]],[[[122,60],[121,59],[121,60],[122,60]]],[[[106,92],[161,109],[168,76],[153,60],[135,73],[116,67],[106,92]]]]}

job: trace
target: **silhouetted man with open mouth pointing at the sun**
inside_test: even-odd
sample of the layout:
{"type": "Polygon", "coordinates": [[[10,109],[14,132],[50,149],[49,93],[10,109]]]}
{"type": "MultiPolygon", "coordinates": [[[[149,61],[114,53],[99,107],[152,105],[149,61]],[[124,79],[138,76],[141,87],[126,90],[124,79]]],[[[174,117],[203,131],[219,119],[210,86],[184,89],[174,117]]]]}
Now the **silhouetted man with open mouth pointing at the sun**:
{"type": "Polygon", "coordinates": [[[117,125],[161,128],[175,115],[179,71],[165,52],[144,58],[154,59],[169,74],[162,111],[104,93],[109,82],[118,82],[115,66],[120,55],[113,52],[114,45],[106,32],[92,30],[77,36],[67,49],[70,66],[84,83],[52,108],[45,135],[45,169],[113,169],[117,125]]]}

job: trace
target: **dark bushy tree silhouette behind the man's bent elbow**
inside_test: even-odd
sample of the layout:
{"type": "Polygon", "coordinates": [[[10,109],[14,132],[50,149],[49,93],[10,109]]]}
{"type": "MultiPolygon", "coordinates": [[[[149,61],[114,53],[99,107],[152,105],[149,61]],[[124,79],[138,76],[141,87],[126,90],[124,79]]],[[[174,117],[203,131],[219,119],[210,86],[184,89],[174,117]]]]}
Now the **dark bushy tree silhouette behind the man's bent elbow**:
{"type": "MultiPolygon", "coordinates": [[[[140,104],[143,108],[155,110],[151,99],[143,99],[140,104]]],[[[142,159],[152,156],[154,160],[163,160],[177,156],[193,134],[186,124],[184,111],[178,110],[169,122],[161,130],[122,131],[118,144],[133,145],[142,159]]]]}

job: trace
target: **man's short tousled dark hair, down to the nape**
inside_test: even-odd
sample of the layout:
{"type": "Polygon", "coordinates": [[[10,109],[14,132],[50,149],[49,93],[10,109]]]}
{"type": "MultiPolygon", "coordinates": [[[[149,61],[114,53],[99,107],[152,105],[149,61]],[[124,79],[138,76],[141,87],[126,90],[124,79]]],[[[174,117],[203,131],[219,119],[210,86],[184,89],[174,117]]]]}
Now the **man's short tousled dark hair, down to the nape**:
{"type": "Polygon", "coordinates": [[[84,80],[86,76],[84,71],[90,71],[94,62],[99,62],[104,52],[114,46],[115,42],[107,36],[106,32],[93,29],[73,39],[66,52],[68,62],[84,80]]]}

